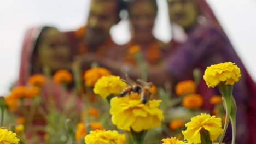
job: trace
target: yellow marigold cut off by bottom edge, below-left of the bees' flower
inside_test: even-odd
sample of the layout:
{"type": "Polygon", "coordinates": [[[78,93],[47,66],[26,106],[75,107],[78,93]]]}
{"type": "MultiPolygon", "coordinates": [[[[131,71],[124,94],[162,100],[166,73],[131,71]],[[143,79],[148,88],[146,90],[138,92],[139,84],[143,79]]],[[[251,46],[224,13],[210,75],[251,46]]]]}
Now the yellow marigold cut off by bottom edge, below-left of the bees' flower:
{"type": "Polygon", "coordinates": [[[105,131],[105,130],[95,130],[90,131],[90,134],[85,136],[86,144],[116,144],[118,141],[118,131],[105,131]]]}

